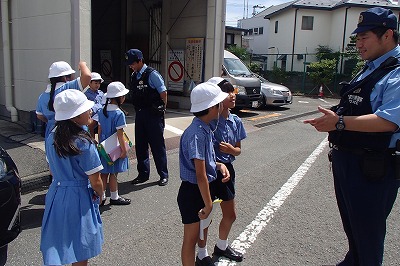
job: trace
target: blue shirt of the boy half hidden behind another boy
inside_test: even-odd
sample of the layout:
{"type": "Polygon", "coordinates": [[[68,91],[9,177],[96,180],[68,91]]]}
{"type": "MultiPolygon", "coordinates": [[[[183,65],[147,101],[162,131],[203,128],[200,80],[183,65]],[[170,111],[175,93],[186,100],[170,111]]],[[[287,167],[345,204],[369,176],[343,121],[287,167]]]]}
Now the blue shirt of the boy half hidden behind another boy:
{"type": "Polygon", "coordinates": [[[237,115],[229,113],[227,119],[220,115],[218,120],[212,120],[210,127],[214,131],[214,149],[217,161],[232,163],[235,160],[235,156],[221,152],[219,144],[223,141],[235,146],[237,142],[247,137],[242,120],[237,115]]]}

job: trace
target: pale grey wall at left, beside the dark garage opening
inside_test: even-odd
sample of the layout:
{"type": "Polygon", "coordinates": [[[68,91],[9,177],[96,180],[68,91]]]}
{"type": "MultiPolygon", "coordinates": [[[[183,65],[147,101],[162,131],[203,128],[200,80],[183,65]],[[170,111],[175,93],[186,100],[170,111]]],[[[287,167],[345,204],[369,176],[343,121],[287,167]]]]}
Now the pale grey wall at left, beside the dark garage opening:
{"type": "MultiPolygon", "coordinates": [[[[79,58],[90,64],[90,0],[15,0],[9,10],[14,105],[31,111],[54,61],[67,61],[75,70],[79,58]]],[[[2,62],[0,67],[3,75],[2,62]]]]}

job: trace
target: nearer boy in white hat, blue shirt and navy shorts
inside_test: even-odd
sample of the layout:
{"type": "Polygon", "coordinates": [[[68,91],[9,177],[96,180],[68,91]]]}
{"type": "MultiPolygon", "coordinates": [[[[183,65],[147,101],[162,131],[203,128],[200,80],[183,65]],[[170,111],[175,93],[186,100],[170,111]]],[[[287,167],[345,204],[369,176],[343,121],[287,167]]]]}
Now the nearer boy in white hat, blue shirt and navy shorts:
{"type": "MultiPolygon", "coordinates": [[[[212,83],[197,85],[190,94],[191,109],[195,118],[184,131],[179,147],[180,177],[178,206],[183,223],[182,265],[195,264],[196,243],[199,241],[200,219],[206,219],[212,210],[213,187],[217,170],[229,180],[224,164],[216,162],[212,142],[211,120],[217,119],[222,101],[228,96],[212,83]]],[[[204,230],[207,239],[207,229],[204,230]]],[[[207,247],[199,248],[196,265],[214,265],[207,247]]]]}

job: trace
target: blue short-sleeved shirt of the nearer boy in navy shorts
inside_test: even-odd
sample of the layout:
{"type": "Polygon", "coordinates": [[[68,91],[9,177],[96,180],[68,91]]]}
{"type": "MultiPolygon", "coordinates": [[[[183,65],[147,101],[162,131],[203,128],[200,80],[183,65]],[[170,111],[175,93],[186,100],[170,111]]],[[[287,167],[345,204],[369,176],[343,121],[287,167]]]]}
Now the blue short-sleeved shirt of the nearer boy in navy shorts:
{"type": "Polygon", "coordinates": [[[179,170],[182,181],[197,184],[193,159],[203,160],[208,182],[217,177],[217,164],[210,126],[195,117],[183,132],[179,144],[179,170]]]}

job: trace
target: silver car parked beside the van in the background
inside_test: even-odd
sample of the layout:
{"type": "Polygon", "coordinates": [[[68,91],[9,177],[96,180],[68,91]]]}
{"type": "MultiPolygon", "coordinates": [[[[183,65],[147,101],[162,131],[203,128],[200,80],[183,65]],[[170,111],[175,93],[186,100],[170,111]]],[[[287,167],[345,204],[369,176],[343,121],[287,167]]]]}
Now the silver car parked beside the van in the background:
{"type": "Polygon", "coordinates": [[[288,87],[272,83],[254,73],[261,81],[261,106],[282,106],[292,103],[292,92],[288,87]]]}

